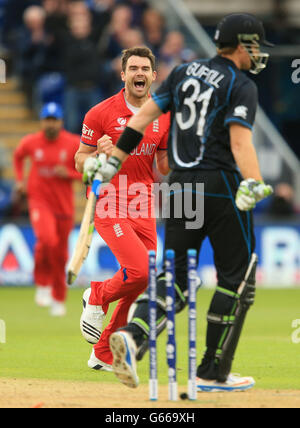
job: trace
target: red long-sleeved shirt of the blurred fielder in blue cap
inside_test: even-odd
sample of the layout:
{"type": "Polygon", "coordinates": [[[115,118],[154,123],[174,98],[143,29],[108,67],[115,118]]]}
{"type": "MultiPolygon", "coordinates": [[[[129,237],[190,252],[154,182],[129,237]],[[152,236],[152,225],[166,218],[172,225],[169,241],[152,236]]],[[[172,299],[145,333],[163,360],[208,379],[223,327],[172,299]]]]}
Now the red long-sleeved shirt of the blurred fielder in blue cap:
{"type": "Polygon", "coordinates": [[[21,140],[14,153],[15,176],[17,181],[23,180],[24,160],[30,158],[31,169],[27,184],[30,205],[44,204],[55,215],[73,216],[72,181],[81,178],[74,162],[79,144],[79,136],[65,130],[54,141],[48,140],[43,131],[21,140]],[[56,175],[54,168],[57,165],[67,168],[67,178],[56,175]]]}

